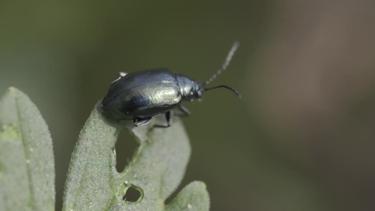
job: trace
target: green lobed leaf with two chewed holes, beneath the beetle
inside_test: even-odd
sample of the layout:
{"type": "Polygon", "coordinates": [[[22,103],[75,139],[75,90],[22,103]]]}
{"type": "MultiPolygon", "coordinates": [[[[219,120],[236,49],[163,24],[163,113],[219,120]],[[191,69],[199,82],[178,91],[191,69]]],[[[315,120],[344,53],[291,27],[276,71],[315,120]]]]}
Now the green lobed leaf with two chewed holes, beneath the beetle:
{"type": "MultiPolygon", "coordinates": [[[[99,105],[84,125],[73,151],[63,210],[164,210],[164,201],[180,184],[190,157],[189,139],[181,120],[174,117],[171,127],[152,128],[153,124],[165,124],[164,116],[160,115],[150,124],[135,128],[131,121],[106,120],[99,105]],[[115,168],[115,154],[121,152],[114,151],[119,130],[128,130],[139,144],[129,165],[120,173],[115,168]],[[141,193],[136,202],[122,199],[129,187],[141,193]]],[[[208,210],[209,198],[204,184],[188,185],[168,210],[174,207],[179,208],[174,211],[189,210],[189,204],[191,210],[208,210]],[[186,199],[181,200],[181,197],[186,199]]]]}

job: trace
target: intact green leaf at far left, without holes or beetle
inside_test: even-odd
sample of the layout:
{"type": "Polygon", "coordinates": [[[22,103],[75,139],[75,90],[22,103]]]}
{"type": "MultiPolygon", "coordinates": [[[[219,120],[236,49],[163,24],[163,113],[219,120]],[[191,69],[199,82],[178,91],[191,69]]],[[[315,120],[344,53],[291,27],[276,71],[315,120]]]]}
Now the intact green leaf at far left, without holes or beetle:
{"type": "Polygon", "coordinates": [[[0,99],[0,210],[54,210],[52,139],[39,110],[10,87],[0,99]]]}

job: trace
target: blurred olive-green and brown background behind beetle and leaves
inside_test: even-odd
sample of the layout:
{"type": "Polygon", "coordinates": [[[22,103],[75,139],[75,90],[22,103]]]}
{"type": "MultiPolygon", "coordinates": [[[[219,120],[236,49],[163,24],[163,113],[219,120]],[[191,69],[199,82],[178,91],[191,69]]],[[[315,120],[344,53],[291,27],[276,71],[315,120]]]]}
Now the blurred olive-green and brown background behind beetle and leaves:
{"type": "MultiPolygon", "coordinates": [[[[1,0],[0,90],[26,92],[49,125],[60,210],[78,134],[117,72],[167,66],[204,81],[238,40],[213,84],[243,99],[215,90],[184,103],[181,187],[205,181],[213,211],[374,210],[374,6],[1,0]]],[[[134,146],[119,140],[121,162],[134,146]]]]}

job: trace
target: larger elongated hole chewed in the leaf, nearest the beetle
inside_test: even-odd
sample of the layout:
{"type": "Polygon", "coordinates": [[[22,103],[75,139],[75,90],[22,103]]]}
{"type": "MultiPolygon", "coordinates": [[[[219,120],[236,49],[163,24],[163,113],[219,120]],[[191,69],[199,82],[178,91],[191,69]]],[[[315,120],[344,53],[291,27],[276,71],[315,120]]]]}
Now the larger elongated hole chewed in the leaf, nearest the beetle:
{"type": "Polygon", "coordinates": [[[115,144],[117,172],[123,172],[133,157],[137,147],[138,145],[129,131],[125,129],[120,130],[115,144]]]}

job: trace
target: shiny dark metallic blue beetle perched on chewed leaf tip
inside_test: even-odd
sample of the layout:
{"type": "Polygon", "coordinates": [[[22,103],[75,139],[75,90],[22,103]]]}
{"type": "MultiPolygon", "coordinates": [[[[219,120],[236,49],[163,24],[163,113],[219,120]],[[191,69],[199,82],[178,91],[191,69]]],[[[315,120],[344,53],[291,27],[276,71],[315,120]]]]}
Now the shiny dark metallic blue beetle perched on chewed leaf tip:
{"type": "Polygon", "coordinates": [[[169,127],[171,110],[178,107],[185,116],[189,116],[189,110],[181,102],[200,99],[204,91],[225,88],[241,98],[239,92],[226,85],[205,87],[226,69],[238,47],[239,42],[234,42],[221,68],[204,84],[171,72],[168,68],[148,69],[131,74],[120,72],[103,98],[101,110],[116,120],[133,120],[135,127],[148,124],[153,116],[165,114],[167,125],[157,127],[169,127]]]}

